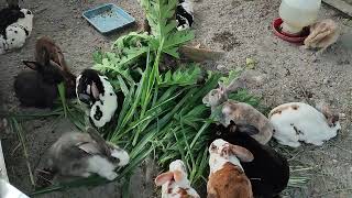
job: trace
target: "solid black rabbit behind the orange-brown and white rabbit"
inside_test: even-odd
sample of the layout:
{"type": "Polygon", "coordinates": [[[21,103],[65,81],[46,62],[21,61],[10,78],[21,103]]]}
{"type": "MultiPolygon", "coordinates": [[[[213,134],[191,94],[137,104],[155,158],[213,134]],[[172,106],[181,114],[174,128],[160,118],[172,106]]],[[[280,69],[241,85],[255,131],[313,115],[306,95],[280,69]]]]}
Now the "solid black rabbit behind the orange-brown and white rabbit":
{"type": "Polygon", "coordinates": [[[251,136],[257,133],[255,127],[235,124],[233,121],[227,128],[221,124],[211,127],[211,140],[222,139],[233,145],[243,146],[253,154],[252,162],[241,163],[251,180],[253,194],[255,197],[273,198],[287,187],[289,165],[283,155],[251,136]]]}

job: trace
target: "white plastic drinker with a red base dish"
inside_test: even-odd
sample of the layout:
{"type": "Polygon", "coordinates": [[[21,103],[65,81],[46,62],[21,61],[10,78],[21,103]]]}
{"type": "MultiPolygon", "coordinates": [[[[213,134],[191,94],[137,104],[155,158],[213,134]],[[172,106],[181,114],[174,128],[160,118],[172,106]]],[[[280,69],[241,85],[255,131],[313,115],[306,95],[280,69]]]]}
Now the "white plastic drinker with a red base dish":
{"type": "Polygon", "coordinates": [[[280,18],[272,24],[275,35],[292,43],[304,42],[320,7],[321,0],[283,0],[278,11],[280,18]]]}

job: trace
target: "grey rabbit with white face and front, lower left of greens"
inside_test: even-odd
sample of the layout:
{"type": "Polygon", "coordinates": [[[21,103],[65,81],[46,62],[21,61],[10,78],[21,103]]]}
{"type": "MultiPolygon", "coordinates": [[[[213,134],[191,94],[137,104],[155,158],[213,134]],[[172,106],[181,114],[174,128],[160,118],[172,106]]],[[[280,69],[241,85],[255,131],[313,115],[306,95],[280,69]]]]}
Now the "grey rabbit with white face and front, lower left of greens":
{"type": "Polygon", "coordinates": [[[107,143],[92,128],[87,133],[63,134],[48,150],[47,167],[52,174],[89,177],[98,174],[109,180],[117,178],[114,169],[129,163],[129,154],[107,143]]]}

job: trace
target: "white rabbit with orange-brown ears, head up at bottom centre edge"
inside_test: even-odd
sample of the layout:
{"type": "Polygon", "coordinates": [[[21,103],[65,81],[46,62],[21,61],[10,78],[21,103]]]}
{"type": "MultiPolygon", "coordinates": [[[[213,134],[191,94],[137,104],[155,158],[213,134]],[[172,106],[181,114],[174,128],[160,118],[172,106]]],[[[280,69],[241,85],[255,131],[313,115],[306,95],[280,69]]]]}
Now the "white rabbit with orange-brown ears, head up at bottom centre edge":
{"type": "Polygon", "coordinates": [[[187,179],[187,170],[183,161],[169,164],[169,170],[155,178],[155,185],[162,186],[162,198],[200,198],[187,179]]]}

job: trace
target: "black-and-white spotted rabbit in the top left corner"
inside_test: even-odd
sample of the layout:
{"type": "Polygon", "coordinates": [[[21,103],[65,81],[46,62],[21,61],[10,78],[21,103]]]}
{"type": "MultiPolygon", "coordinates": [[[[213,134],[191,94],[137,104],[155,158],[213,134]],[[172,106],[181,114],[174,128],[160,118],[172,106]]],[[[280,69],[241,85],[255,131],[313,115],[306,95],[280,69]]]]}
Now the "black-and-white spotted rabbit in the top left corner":
{"type": "MultiPolygon", "coordinates": [[[[22,47],[31,35],[33,28],[33,13],[30,10],[21,9],[21,14],[18,12],[18,8],[8,9],[11,10],[11,14],[9,18],[6,16],[6,20],[1,22],[0,54],[22,47]]],[[[4,15],[8,14],[4,13],[4,15]]]]}

